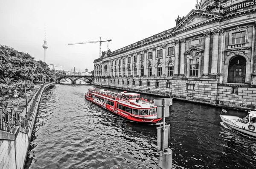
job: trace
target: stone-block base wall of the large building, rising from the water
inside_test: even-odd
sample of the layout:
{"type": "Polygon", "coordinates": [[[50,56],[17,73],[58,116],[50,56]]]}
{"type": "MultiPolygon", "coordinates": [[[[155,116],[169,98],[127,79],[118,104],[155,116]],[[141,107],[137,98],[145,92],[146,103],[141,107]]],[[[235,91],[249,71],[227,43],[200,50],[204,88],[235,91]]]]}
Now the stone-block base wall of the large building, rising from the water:
{"type": "Polygon", "coordinates": [[[219,84],[217,79],[187,78],[97,78],[94,85],[172,97],[183,101],[239,110],[256,109],[256,86],[219,84]],[[159,82],[156,87],[156,82],[159,82]],[[149,84],[149,85],[148,85],[149,84]],[[188,90],[188,85],[194,88],[188,90]],[[234,93],[234,91],[236,91],[234,93]]]}

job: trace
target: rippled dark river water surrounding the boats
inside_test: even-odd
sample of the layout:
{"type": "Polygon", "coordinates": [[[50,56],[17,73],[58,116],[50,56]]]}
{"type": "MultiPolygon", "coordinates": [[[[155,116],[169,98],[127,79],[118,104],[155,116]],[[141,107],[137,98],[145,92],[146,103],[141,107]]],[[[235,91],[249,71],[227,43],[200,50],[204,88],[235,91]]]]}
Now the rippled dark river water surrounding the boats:
{"type": "MultiPolygon", "coordinates": [[[[85,100],[91,87],[57,84],[44,91],[26,169],[159,169],[156,127],[127,121],[85,100]]],[[[256,168],[256,139],[221,126],[220,112],[174,101],[166,118],[174,169],[256,168]]]]}

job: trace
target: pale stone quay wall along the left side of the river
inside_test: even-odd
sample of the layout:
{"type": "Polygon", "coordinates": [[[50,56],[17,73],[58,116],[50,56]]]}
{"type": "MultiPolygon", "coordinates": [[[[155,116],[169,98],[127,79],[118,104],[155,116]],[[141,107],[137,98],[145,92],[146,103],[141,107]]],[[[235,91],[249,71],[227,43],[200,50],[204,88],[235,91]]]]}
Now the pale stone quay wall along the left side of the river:
{"type": "MultiPolygon", "coordinates": [[[[42,90],[39,91],[40,94],[36,100],[35,110],[33,112],[29,126],[26,129],[23,129],[20,126],[16,126],[11,133],[0,131],[0,169],[24,168],[42,93],[45,88],[53,84],[55,84],[55,82],[44,85],[42,90]]],[[[36,96],[36,93],[34,96],[36,96]]],[[[33,101],[33,98],[31,101],[33,101]]]]}

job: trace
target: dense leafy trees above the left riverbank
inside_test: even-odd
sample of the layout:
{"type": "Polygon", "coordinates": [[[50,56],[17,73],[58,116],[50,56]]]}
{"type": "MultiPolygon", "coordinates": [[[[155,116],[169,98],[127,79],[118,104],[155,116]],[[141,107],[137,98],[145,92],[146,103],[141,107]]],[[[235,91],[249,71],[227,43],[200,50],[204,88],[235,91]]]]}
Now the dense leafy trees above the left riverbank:
{"type": "Polygon", "coordinates": [[[9,99],[17,89],[23,96],[32,89],[32,81],[54,82],[54,71],[47,63],[36,61],[30,54],[19,52],[5,45],[0,45],[0,99],[9,99]]]}

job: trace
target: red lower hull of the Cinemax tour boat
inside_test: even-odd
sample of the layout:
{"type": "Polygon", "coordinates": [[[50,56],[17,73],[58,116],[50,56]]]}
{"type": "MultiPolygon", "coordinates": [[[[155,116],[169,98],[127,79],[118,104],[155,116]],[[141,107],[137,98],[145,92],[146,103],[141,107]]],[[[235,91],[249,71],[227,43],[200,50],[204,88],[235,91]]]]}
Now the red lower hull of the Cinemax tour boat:
{"type": "Polygon", "coordinates": [[[140,122],[140,123],[150,123],[150,124],[156,124],[157,122],[159,122],[162,118],[140,118],[140,117],[136,117],[134,115],[131,115],[130,113],[125,113],[125,112],[122,112],[120,110],[115,110],[114,107],[112,106],[108,106],[106,104],[100,104],[100,103],[96,103],[95,101],[93,101],[93,98],[92,97],[89,97],[87,95],[85,95],[85,99],[87,99],[88,101],[91,101],[93,102],[94,104],[97,104],[98,106],[116,114],[116,115],[119,115],[125,119],[128,119],[130,121],[136,121],[136,122],[140,122]]]}

